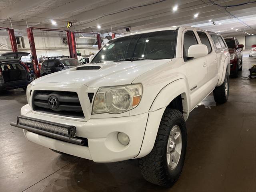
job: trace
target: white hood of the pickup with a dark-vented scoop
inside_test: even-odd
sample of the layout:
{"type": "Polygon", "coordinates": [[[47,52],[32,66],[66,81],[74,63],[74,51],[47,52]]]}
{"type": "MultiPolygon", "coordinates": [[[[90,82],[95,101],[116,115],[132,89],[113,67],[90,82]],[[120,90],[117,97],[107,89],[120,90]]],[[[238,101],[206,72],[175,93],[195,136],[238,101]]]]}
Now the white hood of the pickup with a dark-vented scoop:
{"type": "Polygon", "coordinates": [[[141,74],[166,62],[170,62],[171,60],[172,59],[85,64],[40,77],[34,80],[32,84],[75,83],[84,84],[88,87],[131,84],[132,81],[141,74]]]}

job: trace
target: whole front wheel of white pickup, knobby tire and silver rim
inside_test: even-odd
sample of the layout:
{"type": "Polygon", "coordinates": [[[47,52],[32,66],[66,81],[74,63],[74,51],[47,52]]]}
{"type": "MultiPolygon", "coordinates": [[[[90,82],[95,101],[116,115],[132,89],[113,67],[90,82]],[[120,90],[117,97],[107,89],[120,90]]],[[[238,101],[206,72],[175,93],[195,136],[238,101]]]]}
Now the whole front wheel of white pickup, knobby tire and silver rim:
{"type": "Polygon", "coordinates": [[[159,186],[172,186],[182,172],[186,146],[186,124],[182,113],[166,109],[152,151],[139,159],[144,179],[159,186]]]}

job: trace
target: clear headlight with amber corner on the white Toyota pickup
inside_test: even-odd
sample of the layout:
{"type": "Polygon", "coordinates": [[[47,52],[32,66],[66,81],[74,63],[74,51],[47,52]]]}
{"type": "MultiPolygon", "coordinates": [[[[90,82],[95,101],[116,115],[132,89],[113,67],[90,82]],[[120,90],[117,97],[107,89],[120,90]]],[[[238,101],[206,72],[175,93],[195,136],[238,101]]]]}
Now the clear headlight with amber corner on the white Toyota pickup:
{"type": "Polygon", "coordinates": [[[100,87],[92,106],[92,114],[118,114],[138,106],[142,96],[142,84],[100,87]]]}

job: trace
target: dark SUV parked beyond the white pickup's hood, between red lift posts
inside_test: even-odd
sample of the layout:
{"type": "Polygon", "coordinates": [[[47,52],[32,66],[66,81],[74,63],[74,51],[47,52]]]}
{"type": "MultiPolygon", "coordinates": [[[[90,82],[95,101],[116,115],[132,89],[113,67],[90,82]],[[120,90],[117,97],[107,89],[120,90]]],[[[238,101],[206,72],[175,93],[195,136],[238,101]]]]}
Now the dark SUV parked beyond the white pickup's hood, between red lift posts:
{"type": "Polygon", "coordinates": [[[54,58],[45,60],[41,65],[40,75],[44,76],[50,73],[80,66],[81,63],[74,58],[54,58]]]}

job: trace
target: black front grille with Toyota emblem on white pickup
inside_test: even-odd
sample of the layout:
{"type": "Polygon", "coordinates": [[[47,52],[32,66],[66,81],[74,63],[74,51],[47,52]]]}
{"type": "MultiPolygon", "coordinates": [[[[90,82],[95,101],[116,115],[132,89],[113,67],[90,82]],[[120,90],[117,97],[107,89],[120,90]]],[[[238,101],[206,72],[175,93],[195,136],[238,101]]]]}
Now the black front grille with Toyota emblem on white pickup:
{"type": "Polygon", "coordinates": [[[35,90],[32,107],[34,111],[38,112],[84,118],[76,92],[35,90]]]}

